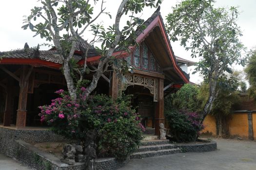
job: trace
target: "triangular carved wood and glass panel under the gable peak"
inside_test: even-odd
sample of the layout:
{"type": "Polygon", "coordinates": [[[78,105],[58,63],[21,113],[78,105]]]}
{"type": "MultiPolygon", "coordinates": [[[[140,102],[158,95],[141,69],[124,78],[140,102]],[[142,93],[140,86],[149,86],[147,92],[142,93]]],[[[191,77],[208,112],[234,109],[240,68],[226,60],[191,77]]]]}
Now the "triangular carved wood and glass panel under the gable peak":
{"type": "Polygon", "coordinates": [[[155,56],[144,42],[134,48],[126,61],[134,68],[162,73],[155,56]]]}

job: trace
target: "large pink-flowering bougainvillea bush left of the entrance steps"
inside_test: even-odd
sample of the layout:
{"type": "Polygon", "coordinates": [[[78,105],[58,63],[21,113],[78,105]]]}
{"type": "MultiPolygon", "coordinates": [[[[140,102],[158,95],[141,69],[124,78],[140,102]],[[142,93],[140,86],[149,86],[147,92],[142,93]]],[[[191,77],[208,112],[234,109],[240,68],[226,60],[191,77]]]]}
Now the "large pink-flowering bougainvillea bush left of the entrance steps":
{"type": "Polygon", "coordinates": [[[138,146],[144,130],[131,108],[130,96],[114,101],[106,95],[85,96],[85,91],[85,87],[80,88],[76,101],[64,90],[56,91],[59,98],[39,106],[41,121],[46,121],[55,133],[81,141],[88,130],[96,129],[99,156],[126,158],[138,146]]]}

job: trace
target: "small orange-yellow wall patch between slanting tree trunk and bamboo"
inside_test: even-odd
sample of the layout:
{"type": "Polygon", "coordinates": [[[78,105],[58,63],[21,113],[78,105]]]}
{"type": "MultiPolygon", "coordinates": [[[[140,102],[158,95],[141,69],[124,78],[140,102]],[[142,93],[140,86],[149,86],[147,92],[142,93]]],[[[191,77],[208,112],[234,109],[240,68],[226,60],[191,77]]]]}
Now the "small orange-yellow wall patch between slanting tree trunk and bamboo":
{"type": "Polygon", "coordinates": [[[216,136],[216,120],[215,117],[207,115],[203,121],[205,128],[201,131],[203,135],[216,136]]]}

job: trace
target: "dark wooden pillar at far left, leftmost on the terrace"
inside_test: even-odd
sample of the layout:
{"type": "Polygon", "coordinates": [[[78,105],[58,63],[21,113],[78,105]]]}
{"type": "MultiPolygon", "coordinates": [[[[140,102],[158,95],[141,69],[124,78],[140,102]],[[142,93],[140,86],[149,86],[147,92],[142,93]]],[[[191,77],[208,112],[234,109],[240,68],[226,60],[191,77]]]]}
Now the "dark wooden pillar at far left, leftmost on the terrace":
{"type": "Polygon", "coordinates": [[[5,101],[5,111],[3,116],[3,126],[11,125],[11,116],[12,116],[12,79],[8,79],[8,84],[6,86],[6,101],[5,101]]]}

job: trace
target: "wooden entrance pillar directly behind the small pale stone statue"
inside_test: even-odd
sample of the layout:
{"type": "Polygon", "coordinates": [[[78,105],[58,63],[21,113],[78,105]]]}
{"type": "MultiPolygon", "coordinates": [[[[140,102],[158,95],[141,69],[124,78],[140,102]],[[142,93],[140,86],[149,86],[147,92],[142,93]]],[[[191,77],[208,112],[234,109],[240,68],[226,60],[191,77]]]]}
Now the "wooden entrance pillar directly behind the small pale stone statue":
{"type": "Polygon", "coordinates": [[[155,134],[158,136],[160,135],[159,124],[164,123],[163,81],[163,79],[159,79],[158,81],[158,102],[155,111],[155,134]]]}

